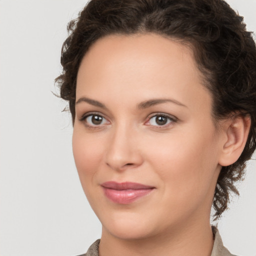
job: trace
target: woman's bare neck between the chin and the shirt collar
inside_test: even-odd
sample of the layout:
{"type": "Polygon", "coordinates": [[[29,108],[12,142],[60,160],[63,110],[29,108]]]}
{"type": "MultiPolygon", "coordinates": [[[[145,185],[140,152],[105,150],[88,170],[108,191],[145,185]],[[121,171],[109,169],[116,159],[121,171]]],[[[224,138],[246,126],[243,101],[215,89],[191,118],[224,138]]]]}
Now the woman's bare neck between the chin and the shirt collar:
{"type": "Polygon", "coordinates": [[[179,225],[142,239],[120,239],[102,229],[99,256],[210,256],[213,235],[209,221],[179,225]],[[196,224],[195,224],[196,223],[196,224]]]}

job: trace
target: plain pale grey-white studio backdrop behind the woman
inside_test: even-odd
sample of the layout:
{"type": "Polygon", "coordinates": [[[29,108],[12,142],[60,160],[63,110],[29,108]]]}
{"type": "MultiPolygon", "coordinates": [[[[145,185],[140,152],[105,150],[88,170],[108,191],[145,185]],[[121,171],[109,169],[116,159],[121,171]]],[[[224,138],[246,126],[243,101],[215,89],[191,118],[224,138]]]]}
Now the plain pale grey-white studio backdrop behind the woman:
{"type": "MultiPolygon", "coordinates": [[[[256,0],[229,0],[256,31],[256,0]]],[[[67,22],[84,0],[0,0],[0,255],[72,256],[100,237],[83,194],[66,103],[53,95],[67,22]]],[[[232,253],[256,255],[256,164],[218,223],[232,253]]]]}

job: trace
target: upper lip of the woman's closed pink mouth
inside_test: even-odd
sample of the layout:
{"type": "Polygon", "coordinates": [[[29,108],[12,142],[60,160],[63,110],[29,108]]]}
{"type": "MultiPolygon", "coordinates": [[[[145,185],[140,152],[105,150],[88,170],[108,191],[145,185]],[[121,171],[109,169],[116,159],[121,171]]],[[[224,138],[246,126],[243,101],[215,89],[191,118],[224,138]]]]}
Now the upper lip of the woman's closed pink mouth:
{"type": "Polygon", "coordinates": [[[126,190],[126,189],[149,189],[154,188],[150,185],[144,185],[136,182],[116,182],[116,181],[106,181],[100,184],[105,188],[115,189],[115,190],[126,190]]]}

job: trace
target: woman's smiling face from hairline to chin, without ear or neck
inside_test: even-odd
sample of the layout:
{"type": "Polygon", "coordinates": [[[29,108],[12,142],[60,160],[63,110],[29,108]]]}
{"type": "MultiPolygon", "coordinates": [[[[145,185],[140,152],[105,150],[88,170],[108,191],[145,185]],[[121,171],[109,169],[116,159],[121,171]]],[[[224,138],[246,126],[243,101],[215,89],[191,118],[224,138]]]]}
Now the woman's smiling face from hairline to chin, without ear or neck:
{"type": "Polygon", "coordinates": [[[191,50],[109,35],[77,74],[73,154],[102,232],[138,239],[209,223],[221,135],[191,50]]]}

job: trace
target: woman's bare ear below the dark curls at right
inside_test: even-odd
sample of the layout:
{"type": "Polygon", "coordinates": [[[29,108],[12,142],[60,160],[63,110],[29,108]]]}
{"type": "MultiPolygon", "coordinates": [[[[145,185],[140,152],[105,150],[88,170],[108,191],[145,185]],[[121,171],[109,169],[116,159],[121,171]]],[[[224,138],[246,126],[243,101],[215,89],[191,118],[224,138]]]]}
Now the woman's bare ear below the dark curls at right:
{"type": "Polygon", "coordinates": [[[242,153],[250,129],[250,116],[235,115],[221,125],[224,136],[218,163],[227,166],[234,163],[242,153]]]}

